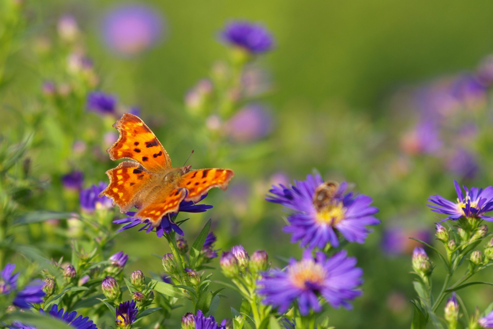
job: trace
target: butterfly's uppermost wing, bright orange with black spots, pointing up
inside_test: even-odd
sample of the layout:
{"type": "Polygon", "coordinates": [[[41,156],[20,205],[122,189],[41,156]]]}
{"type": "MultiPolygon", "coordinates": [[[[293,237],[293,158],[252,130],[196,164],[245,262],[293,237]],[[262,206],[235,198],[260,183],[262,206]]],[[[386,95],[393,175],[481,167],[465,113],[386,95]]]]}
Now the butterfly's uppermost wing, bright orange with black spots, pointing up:
{"type": "Polygon", "coordinates": [[[133,159],[153,172],[172,167],[163,145],[138,116],[125,113],[113,127],[120,132],[120,138],[106,150],[111,160],[133,159]]]}

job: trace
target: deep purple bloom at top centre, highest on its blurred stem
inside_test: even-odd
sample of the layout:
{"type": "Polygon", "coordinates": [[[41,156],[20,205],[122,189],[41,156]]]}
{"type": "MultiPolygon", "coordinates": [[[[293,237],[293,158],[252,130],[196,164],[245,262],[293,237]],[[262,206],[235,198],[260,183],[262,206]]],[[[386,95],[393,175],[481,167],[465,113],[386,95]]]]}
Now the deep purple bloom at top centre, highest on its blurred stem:
{"type": "Polygon", "coordinates": [[[272,49],[274,38],[263,26],[246,21],[234,21],[221,32],[224,42],[260,54],[272,49]]]}

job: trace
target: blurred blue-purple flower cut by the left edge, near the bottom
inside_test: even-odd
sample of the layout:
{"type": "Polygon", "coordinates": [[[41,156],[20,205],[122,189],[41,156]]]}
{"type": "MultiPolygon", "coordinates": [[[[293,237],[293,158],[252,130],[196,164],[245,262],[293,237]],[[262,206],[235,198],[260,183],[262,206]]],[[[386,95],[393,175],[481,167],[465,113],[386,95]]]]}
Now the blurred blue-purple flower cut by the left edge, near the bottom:
{"type": "MultiPolygon", "coordinates": [[[[13,274],[14,269],[15,264],[6,264],[0,272],[0,294],[8,295],[12,291],[17,291],[19,273],[13,274]]],[[[42,302],[42,297],[46,295],[42,290],[43,286],[44,282],[41,280],[32,281],[22,290],[16,292],[12,304],[20,308],[30,308],[32,303],[42,302]]]]}

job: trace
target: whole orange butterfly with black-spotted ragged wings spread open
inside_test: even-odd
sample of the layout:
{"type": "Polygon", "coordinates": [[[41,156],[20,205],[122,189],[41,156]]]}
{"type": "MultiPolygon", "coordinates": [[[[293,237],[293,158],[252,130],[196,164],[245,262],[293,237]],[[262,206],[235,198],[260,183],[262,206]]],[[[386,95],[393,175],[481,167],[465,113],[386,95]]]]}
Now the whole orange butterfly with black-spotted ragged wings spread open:
{"type": "Polygon", "coordinates": [[[177,213],[180,202],[198,202],[213,187],[228,188],[231,169],[190,170],[191,165],[174,168],[166,150],[138,117],[125,113],[114,125],[120,138],[106,150],[111,160],[124,161],[106,171],[108,187],[99,195],[111,197],[121,212],[139,208],[135,217],[158,227],[163,216],[177,213]]]}

